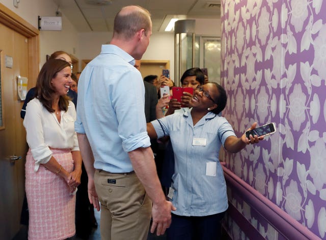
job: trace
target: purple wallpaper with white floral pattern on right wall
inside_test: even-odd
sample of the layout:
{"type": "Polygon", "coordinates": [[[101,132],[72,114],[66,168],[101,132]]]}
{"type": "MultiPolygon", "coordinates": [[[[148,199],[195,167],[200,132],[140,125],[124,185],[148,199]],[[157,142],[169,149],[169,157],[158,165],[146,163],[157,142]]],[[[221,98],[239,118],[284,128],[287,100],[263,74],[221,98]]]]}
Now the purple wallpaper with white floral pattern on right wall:
{"type": "Polygon", "coordinates": [[[238,136],[277,127],[227,153],[227,167],[326,239],[326,1],[222,0],[221,11],[223,114],[238,136]]]}

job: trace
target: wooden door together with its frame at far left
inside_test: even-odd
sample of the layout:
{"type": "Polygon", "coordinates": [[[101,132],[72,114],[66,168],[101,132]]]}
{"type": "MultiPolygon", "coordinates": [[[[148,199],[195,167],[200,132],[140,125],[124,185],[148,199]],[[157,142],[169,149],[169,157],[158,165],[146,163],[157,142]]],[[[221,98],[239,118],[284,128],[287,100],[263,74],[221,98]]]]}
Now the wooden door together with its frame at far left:
{"type": "Polygon", "coordinates": [[[35,86],[39,71],[39,31],[0,4],[0,238],[12,239],[20,229],[24,196],[26,134],[20,118],[17,76],[35,86]],[[12,60],[12,64],[5,63],[12,60]],[[11,160],[12,156],[21,156],[11,160]]]}

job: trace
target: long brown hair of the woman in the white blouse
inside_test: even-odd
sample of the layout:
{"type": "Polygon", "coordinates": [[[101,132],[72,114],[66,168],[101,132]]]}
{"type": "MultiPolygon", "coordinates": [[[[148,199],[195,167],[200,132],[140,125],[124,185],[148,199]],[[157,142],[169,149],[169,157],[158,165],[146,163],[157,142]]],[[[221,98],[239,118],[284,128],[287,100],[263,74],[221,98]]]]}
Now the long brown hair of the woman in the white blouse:
{"type": "MultiPolygon", "coordinates": [[[[70,64],[61,59],[49,59],[44,63],[39,76],[37,77],[36,98],[40,100],[49,112],[55,112],[55,109],[52,108],[52,103],[56,90],[53,88],[51,81],[57,76],[58,72],[65,67],[70,67],[70,64]]],[[[59,109],[67,111],[69,100],[70,99],[67,95],[60,96],[59,109]]]]}

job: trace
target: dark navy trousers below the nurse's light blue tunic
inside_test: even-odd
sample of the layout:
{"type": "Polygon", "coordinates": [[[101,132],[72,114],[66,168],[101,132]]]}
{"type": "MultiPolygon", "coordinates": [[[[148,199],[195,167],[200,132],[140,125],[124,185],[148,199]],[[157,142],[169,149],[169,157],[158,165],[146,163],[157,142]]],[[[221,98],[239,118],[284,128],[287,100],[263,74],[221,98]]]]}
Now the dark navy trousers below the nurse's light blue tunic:
{"type": "Polygon", "coordinates": [[[221,220],[224,212],[204,217],[185,217],[172,213],[172,223],[167,230],[169,240],[221,239],[221,220]]]}

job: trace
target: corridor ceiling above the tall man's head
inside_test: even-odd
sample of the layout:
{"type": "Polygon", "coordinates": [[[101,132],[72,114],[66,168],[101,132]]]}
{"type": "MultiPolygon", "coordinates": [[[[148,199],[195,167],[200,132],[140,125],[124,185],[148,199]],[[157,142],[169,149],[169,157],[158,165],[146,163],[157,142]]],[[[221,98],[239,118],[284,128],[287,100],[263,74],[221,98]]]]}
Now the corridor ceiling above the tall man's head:
{"type": "Polygon", "coordinates": [[[152,16],[153,32],[164,32],[172,17],[220,18],[220,0],[53,0],[55,14],[64,13],[77,32],[112,32],[116,13],[127,5],[140,5],[152,16]]]}

